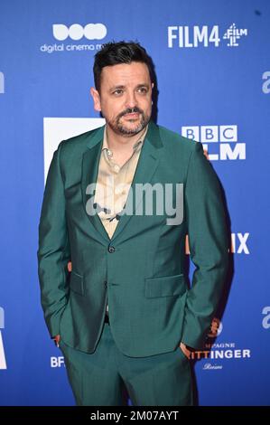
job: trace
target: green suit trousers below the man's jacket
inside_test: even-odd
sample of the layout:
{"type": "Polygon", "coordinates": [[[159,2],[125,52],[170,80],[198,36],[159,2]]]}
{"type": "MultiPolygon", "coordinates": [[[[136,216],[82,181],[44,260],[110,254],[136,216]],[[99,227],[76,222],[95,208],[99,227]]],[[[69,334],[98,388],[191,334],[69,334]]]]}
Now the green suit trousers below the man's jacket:
{"type": "Polygon", "coordinates": [[[190,360],[177,347],[147,357],[129,357],[117,348],[105,323],[93,354],[60,342],[70,386],[79,406],[192,405],[190,360]]]}

